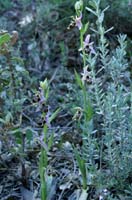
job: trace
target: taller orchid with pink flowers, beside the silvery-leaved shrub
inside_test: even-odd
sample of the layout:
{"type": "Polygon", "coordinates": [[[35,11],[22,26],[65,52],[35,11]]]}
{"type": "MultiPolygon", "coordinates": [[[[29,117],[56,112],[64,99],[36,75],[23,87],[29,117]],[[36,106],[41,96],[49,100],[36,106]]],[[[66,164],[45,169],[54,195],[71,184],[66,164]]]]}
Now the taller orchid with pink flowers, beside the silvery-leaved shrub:
{"type": "MultiPolygon", "coordinates": [[[[77,116],[77,113],[81,111],[80,117],[78,118],[78,123],[80,128],[82,129],[82,138],[83,138],[83,145],[85,143],[85,137],[87,135],[87,131],[90,130],[91,124],[92,124],[92,117],[93,117],[93,109],[91,106],[91,102],[89,99],[89,95],[87,92],[87,85],[86,81],[89,78],[89,71],[88,71],[88,65],[86,64],[87,56],[96,56],[95,49],[93,47],[93,42],[91,41],[90,34],[86,34],[88,30],[89,23],[83,24],[82,18],[83,18],[83,1],[77,1],[75,4],[75,10],[76,10],[76,16],[74,18],[74,24],[78,28],[80,32],[80,48],[79,52],[83,59],[83,72],[81,73],[82,77],[75,71],[75,77],[78,86],[81,89],[82,99],[83,99],[83,105],[82,107],[77,107],[77,112],[75,113],[73,119],[75,119],[75,116],[77,116]]],[[[79,155],[79,152],[77,150],[74,151],[76,160],[78,162],[78,166],[82,175],[82,193],[80,195],[81,199],[87,199],[87,167],[85,158],[83,156],[79,155]]]]}

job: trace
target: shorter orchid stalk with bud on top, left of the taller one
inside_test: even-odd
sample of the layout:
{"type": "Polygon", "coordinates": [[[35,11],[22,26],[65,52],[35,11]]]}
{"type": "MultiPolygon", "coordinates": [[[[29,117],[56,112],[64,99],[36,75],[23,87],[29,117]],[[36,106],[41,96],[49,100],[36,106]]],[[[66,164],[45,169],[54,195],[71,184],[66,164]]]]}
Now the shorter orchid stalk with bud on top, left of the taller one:
{"type": "Polygon", "coordinates": [[[40,160],[39,160],[39,173],[41,182],[41,200],[48,200],[50,195],[50,187],[52,184],[52,176],[47,174],[48,169],[48,152],[53,144],[53,133],[48,134],[51,128],[51,122],[56,118],[60,109],[55,112],[50,112],[50,107],[48,105],[49,98],[49,83],[48,80],[40,82],[39,87],[40,100],[38,102],[38,108],[42,112],[42,117],[44,118],[43,131],[39,138],[39,143],[41,145],[40,160]],[[47,107],[46,111],[43,111],[42,105],[47,107]]]}

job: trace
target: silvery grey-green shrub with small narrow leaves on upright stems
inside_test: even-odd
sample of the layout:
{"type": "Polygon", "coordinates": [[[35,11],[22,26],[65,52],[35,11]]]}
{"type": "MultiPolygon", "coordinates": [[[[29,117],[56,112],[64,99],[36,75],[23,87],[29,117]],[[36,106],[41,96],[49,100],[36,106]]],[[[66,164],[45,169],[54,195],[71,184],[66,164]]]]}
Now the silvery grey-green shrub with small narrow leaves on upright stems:
{"type": "MultiPolygon", "coordinates": [[[[88,52],[90,46],[81,49],[84,63],[82,79],[84,74],[85,77],[89,75],[92,84],[87,88],[86,79],[84,79],[84,86],[77,72],[75,76],[83,94],[83,110],[87,112],[86,95],[89,94],[94,115],[91,115],[92,118],[88,121],[84,117],[84,120],[79,122],[82,129],[83,146],[82,158],[76,156],[76,159],[81,172],[82,162],[87,166],[88,173],[94,174],[95,188],[103,187],[111,190],[115,187],[115,189],[120,188],[124,191],[132,173],[130,165],[132,160],[131,156],[129,157],[132,146],[132,129],[130,128],[132,101],[131,81],[126,59],[126,35],[119,35],[117,47],[110,51],[105,35],[112,28],[105,30],[103,25],[104,14],[108,8],[101,11],[100,0],[92,0],[86,9],[96,17],[96,28],[92,28],[92,31],[98,37],[95,54],[93,51],[88,52]],[[110,170],[109,175],[107,170],[110,170]]],[[[80,35],[82,47],[85,40],[81,31],[80,35]]],[[[90,107],[88,106],[89,113],[91,113],[90,107]]],[[[108,195],[108,198],[111,199],[112,196],[108,195]]]]}

